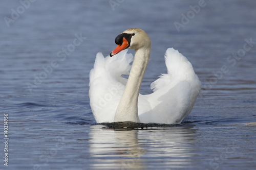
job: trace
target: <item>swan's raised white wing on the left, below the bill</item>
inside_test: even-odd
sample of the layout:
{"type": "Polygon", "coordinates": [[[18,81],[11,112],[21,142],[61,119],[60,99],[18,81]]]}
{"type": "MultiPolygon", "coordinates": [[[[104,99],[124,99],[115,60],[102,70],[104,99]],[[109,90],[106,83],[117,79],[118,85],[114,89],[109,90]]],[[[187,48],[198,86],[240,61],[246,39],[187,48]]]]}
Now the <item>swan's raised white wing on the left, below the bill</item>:
{"type": "Polygon", "coordinates": [[[132,54],[124,50],[114,57],[96,55],[94,68],[90,71],[90,106],[97,123],[114,122],[115,112],[121,99],[126,78],[129,75],[132,54]]]}

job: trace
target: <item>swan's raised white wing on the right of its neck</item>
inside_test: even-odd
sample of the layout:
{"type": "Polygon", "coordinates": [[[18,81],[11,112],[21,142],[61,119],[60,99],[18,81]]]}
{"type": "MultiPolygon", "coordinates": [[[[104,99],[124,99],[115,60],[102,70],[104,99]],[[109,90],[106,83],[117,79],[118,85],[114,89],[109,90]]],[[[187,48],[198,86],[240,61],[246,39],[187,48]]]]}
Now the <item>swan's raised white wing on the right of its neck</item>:
{"type": "Polygon", "coordinates": [[[167,74],[151,84],[154,92],[139,95],[138,111],[143,123],[181,123],[200,92],[201,82],[186,57],[174,48],[168,48],[165,64],[167,74]]]}

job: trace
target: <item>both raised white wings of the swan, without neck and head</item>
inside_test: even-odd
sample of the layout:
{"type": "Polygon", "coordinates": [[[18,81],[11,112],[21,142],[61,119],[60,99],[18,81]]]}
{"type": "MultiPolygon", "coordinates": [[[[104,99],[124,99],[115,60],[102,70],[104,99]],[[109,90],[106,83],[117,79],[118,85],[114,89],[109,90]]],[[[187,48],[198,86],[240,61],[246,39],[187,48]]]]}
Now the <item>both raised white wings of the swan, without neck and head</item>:
{"type": "MultiPolygon", "coordinates": [[[[127,82],[122,75],[129,75],[133,58],[132,54],[127,54],[127,50],[112,58],[97,54],[89,84],[90,105],[97,123],[114,122],[127,82]]],[[[154,92],[138,96],[138,116],[141,123],[181,123],[192,110],[200,92],[201,82],[186,57],[174,48],[168,48],[165,64],[167,74],[151,84],[154,92]]],[[[126,103],[129,105],[129,102],[126,103]]]]}

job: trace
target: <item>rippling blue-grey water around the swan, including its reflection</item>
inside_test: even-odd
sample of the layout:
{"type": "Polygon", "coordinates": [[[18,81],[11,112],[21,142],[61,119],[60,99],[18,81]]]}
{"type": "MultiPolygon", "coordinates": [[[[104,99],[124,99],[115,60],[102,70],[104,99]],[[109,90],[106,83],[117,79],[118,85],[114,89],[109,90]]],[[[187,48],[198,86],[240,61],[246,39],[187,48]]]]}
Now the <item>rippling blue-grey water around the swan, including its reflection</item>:
{"type": "Polygon", "coordinates": [[[35,1],[22,8],[3,1],[1,138],[7,113],[9,140],[0,156],[9,157],[0,168],[255,169],[256,44],[243,49],[245,39],[256,41],[256,3],[205,1],[199,11],[199,2],[35,1]],[[181,14],[189,18],[178,32],[181,14]],[[5,16],[15,18],[9,27],[5,16]],[[108,55],[115,37],[133,27],[152,40],[141,93],[166,72],[168,47],[188,58],[202,82],[181,125],[113,129],[94,120],[88,84],[95,55],[108,55]]]}

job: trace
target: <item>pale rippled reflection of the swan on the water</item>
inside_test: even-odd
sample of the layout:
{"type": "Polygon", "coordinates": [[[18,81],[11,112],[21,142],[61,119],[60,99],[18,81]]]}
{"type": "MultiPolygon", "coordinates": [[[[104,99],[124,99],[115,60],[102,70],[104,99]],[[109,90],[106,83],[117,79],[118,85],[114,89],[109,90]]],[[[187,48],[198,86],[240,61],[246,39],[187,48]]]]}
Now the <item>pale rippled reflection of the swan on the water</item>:
{"type": "Polygon", "coordinates": [[[193,126],[108,129],[91,126],[92,169],[181,168],[193,164],[193,126]]]}

